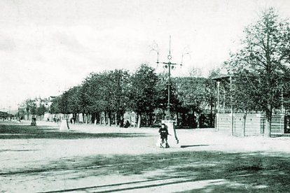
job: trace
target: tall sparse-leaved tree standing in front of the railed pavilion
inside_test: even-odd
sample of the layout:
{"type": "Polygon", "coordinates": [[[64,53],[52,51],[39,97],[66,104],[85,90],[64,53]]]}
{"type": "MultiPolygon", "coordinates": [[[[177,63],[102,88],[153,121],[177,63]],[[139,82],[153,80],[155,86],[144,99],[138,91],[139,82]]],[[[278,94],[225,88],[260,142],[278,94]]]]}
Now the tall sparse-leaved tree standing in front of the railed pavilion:
{"type": "Polygon", "coordinates": [[[226,65],[234,74],[256,77],[257,81],[249,80],[248,86],[259,96],[256,102],[266,115],[264,136],[270,136],[272,111],[279,106],[281,85],[289,76],[289,22],[281,20],[277,11],[269,8],[244,34],[242,48],[231,55],[226,65]]]}

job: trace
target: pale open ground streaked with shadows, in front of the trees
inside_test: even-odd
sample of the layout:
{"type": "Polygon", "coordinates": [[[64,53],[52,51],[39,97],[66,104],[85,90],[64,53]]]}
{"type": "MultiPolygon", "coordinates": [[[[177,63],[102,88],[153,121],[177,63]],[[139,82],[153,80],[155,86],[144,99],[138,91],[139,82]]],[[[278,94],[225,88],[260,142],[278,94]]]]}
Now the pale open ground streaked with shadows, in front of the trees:
{"type": "Polygon", "coordinates": [[[289,192],[290,138],[37,123],[0,122],[1,192],[289,192]]]}

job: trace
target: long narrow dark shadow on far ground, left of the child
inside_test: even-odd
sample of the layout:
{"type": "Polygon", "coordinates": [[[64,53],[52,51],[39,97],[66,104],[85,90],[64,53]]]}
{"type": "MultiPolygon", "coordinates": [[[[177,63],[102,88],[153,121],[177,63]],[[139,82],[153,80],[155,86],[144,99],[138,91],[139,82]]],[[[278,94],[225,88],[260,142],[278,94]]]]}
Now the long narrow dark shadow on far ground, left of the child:
{"type": "Polygon", "coordinates": [[[130,138],[149,136],[142,133],[81,133],[76,131],[60,131],[49,126],[9,125],[0,124],[0,139],[23,139],[23,138],[130,138]]]}

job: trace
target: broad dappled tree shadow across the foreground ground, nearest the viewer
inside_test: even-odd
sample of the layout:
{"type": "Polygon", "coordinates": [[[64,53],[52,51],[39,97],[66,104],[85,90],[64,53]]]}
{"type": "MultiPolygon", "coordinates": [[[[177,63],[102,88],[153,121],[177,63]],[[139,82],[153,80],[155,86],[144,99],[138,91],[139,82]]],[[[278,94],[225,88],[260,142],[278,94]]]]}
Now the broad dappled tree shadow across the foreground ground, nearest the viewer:
{"type": "MultiPolygon", "coordinates": [[[[220,183],[208,183],[205,187],[188,192],[289,192],[290,189],[290,159],[289,155],[264,155],[261,152],[223,153],[223,152],[170,152],[149,155],[116,155],[90,156],[61,159],[42,167],[41,169],[20,169],[19,171],[0,173],[0,176],[26,175],[34,176],[41,173],[54,176],[64,175],[66,180],[77,180],[90,176],[147,176],[144,182],[170,180],[170,183],[140,185],[130,187],[132,190],[163,185],[178,185],[194,183],[202,180],[216,180],[220,183]],[[161,171],[152,174],[152,171],[161,171]],[[149,175],[149,173],[151,173],[149,175]]],[[[138,184],[132,181],[125,184],[138,184]]],[[[106,185],[112,189],[120,185],[106,185]]],[[[90,190],[98,188],[78,187],[57,192],[74,190],[90,190]]],[[[120,190],[116,190],[120,191],[120,190]]]]}

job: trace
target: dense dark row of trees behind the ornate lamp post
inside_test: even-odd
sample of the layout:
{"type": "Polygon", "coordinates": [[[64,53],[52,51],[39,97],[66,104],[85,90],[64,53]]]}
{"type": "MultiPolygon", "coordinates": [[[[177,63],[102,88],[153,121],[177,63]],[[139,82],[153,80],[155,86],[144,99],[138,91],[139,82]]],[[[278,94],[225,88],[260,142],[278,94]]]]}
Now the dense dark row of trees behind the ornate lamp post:
{"type": "MultiPolygon", "coordinates": [[[[199,127],[200,115],[206,113],[213,126],[216,87],[211,78],[173,78],[170,91],[171,111],[181,120],[179,124],[199,127]]],[[[83,113],[97,122],[104,115],[107,124],[119,124],[126,111],[134,111],[138,127],[149,126],[165,119],[167,94],[167,74],[141,64],[131,74],[123,69],[90,73],[81,85],[54,99],[50,112],[74,117],[83,113]]]]}

